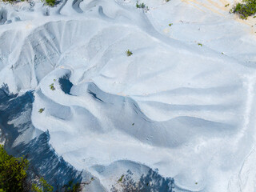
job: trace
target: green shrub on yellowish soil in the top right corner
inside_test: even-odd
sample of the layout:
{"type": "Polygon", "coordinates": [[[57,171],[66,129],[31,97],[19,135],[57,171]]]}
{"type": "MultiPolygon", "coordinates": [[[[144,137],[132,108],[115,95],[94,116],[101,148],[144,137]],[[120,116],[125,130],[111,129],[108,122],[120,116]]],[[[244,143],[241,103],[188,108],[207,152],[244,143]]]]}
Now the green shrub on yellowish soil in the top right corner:
{"type": "Polygon", "coordinates": [[[239,14],[242,19],[247,19],[249,16],[256,14],[256,0],[238,2],[230,12],[239,14]]]}

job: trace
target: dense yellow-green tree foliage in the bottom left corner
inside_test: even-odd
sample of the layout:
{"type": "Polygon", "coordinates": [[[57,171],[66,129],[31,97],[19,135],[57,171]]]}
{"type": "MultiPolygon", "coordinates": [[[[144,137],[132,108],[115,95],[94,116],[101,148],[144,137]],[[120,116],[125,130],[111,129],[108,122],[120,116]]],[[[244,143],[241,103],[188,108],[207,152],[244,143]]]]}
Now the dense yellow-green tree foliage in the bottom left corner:
{"type": "Polygon", "coordinates": [[[0,145],[0,189],[2,191],[25,191],[27,169],[26,158],[14,158],[0,145]]]}

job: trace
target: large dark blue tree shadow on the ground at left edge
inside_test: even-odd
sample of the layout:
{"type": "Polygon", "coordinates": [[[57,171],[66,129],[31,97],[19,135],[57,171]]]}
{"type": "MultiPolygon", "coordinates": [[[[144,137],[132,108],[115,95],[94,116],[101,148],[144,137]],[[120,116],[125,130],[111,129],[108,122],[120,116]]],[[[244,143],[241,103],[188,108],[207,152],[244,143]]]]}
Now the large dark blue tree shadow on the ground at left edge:
{"type": "Polygon", "coordinates": [[[14,157],[24,156],[30,161],[30,180],[43,177],[54,186],[55,191],[62,191],[62,186],[70,180],[81,182],[82,172],[75,170],[62,157],[58,157],[49,144],[50,134],[47,131],[33,138],[36,130],[30,118],[33,102],[32,91],[18,96],[18,94],[10,94],[6,85],[0,88],[1,138],[5,138],[5,148],[9,154],[14,157]],[[12,121],[15,123],[10,123],[12,121]],[[22,138],[25,131],[26,138],[22,138]],[[15,141],[18,138],[24,141],[18,142],[17,145],[15,141]]]}

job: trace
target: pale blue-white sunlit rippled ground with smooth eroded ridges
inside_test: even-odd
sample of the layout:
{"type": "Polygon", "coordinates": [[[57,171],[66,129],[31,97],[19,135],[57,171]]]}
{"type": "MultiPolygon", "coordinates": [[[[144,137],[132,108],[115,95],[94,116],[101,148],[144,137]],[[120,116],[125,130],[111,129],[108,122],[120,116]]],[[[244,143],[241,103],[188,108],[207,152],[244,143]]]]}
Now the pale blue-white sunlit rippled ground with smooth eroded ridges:
{"type": "Polygon", "coordinates": [[[256,18],[234,2],[144,2],[2,3],[0,84],[34,90],[33,126],[106,191],[150,168],[175,191],[254,191],[256,18]]]}

